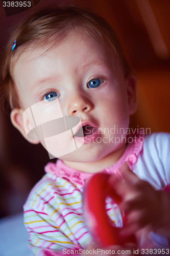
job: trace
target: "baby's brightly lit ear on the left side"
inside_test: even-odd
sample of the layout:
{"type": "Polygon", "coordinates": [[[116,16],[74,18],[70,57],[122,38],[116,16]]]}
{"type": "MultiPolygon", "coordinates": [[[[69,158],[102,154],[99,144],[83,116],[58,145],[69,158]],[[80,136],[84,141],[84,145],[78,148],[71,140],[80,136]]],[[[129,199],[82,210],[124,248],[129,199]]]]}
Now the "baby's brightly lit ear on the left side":
{"type": "MultiPolygon", "coordinates": [[[[40,142],[38,138],[35,140],[27,138],[26,130],[31,131],[33,127],[28,118],[27,120],[25,120],[25,123],[23,123],[23,112],[24,110],[22,109],[13,109],[10,115],[11,122],[26,140],[28,140],[30,143],[38,144],[40,142]]],[[[34,137],[35,138],[37,137],[36,134],[34,137]]]]}

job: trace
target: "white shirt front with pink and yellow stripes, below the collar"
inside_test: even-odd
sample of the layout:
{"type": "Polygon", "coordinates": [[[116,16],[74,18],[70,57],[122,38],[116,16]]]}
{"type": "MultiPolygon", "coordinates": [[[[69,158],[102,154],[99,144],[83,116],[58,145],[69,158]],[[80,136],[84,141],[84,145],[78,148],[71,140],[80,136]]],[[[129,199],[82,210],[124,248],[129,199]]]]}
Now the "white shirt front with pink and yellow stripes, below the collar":
{"type": "MultiPolygon", "coordinates": [[[[44,255],[43,248],[57,252],[87,246],[91,236],[83,216],[82,193],[82,186],[52,173],[35,185],[23,206],[29,247],[35,255],[44,255]]],[[[106,209],[114,223],[116,216],[109,199],[106,209]]]]}

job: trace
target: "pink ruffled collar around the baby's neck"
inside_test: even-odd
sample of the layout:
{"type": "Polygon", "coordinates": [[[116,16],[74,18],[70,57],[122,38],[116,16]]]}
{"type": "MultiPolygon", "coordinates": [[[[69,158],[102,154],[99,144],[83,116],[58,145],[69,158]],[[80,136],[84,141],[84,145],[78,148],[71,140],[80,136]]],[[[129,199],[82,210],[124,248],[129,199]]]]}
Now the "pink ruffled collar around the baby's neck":
{"type": "MultiPolygon", "coordinates": [[[[136,136],[136,134],[134,136],[136,136]]],[[[144,141],[144,134],[137,136],[134,137],[135,139],[133,139],[132,143],[130,143],[130,141],[127,144],[123,156],[115,164],[101,170],[101,172],[121,176],[119,168],[124,162],[127,162],[132,170],[132,165],[137,162],[138,155],[142,150],[144,141]]],[[[80,170],[72,169],[66,166],[60,159],[58,159],[56,163],[48,163],[44,169],[46,173],[53,173],[58,177],[65,178],[66,180],[69,180],[74,184],[79,184],[82,187],[84,186],[85,181],[93,175],[92,173],[83,173],[80,170]]]]}

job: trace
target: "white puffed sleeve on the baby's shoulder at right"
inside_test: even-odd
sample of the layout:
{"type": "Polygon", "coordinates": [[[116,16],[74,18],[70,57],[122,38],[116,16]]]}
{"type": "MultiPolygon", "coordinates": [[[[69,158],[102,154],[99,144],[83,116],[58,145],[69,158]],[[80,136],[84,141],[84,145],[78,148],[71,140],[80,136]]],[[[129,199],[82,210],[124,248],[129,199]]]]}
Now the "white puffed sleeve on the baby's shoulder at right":
{"type": "Polygon", "coordinates": [[[163,189],[170,183],[170,134],[146,135],[143,150],[139,153],[133,172],[155,189],[163,189]]]}

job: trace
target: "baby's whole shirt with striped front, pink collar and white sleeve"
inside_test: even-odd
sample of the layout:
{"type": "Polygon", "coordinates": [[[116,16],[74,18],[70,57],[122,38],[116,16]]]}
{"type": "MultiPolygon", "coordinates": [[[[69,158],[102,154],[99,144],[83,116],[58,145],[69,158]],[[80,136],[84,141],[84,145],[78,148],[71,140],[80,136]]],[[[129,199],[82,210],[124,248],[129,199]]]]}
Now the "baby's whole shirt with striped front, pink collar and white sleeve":
{"type": "MultiPolygon", "coordinates": [[[[127,145],[123,156],[101,172],[118,175],[119,167],[127,162],[140,179],[148,181],[155,189],[166,186],[165,190],[169,191],[170,135],[148,135],[144,143],[139,141],[141,137],[143,135],[138,135],[138,140],[127,145]]],[[[85,222],[82,194],[92,174],[71,169],[62,160],[48,163],[45,172],[47,174],[35,185],[23,206],[30,249],[37,256],[52,256],[55,252],[59,256],[63,249],[85,249],[91,236],[85,222]]],[[[106,200],[106,211],[112,223],[122,226],[118,208],[111,199],[106,200]]],[[[155,248],[160,245],[169,248],[167,238],[153,232],[149,237],[155,248]]]]}

